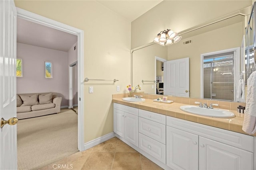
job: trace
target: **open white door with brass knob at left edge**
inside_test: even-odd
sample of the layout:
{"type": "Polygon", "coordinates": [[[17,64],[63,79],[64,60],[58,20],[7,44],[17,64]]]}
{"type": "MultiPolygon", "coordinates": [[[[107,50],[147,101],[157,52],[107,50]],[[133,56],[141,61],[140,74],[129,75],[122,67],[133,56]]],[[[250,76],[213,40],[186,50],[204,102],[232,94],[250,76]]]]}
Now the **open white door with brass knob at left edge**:
{"type": "MultiPolygon", "coordinates": [[[[16,7],[0,0],[0,118],[16,117],[16,7]]],[[[1,119],[0,169],[17,169],[17,119],[1,119]],[[2,126],[3,124],[6,125],[2,126]],[[9,123],[9,124],[8,124],[9,123]]]]}

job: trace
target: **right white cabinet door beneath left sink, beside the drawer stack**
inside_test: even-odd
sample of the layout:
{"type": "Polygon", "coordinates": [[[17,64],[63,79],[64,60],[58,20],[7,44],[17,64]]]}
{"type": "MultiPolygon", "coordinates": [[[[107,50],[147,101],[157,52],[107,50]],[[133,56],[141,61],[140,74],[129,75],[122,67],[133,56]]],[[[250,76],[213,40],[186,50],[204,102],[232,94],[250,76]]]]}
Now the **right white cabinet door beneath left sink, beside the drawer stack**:
{"type": "Polygon", "coordinates": [[[138,147],[138,116],[124,113],[125,139],[138,147]]]}

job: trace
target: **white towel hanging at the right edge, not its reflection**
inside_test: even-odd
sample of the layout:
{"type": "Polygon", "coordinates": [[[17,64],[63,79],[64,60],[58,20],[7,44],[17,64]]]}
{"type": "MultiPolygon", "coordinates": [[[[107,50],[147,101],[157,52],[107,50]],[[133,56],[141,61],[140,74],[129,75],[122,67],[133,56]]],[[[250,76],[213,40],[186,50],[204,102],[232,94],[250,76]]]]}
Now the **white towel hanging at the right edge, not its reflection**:
{"type": "Polygon", "coordinates": [[[247,80],[247,98],[242,130],[252,135],[256,133],[256,71],[247,80]]]}

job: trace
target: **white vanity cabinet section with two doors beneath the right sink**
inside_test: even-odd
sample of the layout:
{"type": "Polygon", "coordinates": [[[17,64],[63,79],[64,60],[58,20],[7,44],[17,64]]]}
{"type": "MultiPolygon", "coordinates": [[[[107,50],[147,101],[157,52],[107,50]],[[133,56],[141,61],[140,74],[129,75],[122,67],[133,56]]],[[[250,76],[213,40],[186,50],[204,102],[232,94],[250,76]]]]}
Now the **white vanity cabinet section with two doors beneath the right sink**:
{"type": "Polygon", "coordinates": [[[166,164],[184,170],[253,170],[254,138],[166,117],[166,164]]]}

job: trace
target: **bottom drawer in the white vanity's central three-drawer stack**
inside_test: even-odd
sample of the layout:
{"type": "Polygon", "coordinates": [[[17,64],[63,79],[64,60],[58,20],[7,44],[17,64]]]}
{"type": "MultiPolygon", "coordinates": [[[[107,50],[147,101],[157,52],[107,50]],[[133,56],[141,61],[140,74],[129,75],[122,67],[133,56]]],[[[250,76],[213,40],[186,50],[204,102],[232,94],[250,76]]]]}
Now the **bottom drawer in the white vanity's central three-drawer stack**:
{"type": "Polygon", "coordinates": [[[166,146],[139,133],[139,148],[154,158],[166,163],[166,146]]]}

